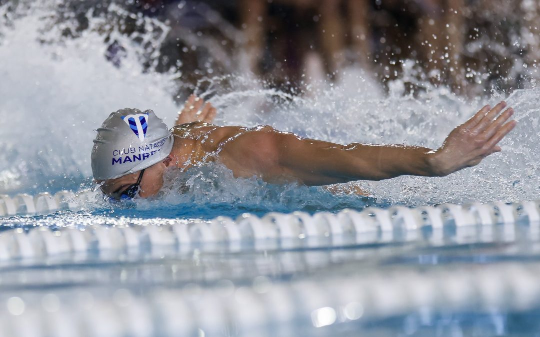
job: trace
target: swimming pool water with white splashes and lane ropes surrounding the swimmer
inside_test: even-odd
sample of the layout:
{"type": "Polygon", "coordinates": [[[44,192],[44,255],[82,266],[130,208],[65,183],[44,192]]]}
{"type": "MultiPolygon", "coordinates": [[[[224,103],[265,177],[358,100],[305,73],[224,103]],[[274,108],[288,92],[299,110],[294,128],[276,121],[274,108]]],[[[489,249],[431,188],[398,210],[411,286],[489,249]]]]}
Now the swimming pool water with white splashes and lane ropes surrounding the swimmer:
{"type": "MultiPolygon", "coordinates": [[[[60,39],[68,23],[49,14],[2,21],[0,335],[538,332],[537,88],[491,93],[519,127],[502,154],[448,177],[360,182],[373,194],[360,197],[207,166],[170,173],[155,200],[110,205],[89,191],[92,129],[124,106],[170,123],[171,75],[144,71],[119,34],[122,66],[103,58],[99,18],[60,39]]],[[[220,124],[340,143],[435,147],[484,102],[427,84],[408,94],[405,80],[382,93],[356,69],[302,97],[242,75],[208,82],[195,91],[220,124]]]]}

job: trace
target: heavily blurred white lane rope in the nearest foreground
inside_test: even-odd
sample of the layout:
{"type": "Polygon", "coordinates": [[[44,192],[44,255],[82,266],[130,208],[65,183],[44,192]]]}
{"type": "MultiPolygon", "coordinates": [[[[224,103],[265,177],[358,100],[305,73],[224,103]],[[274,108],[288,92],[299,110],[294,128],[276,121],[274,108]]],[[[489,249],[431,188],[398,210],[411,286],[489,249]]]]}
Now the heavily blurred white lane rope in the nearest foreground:
{"type": "MultiPolygon", "coordinates": [[[[0,333],[184,336],[221,335],[234,327],[235,336],[320,335],[320,327],[358,322],[361,325],[354,327],[361,334],[370,321],[400,316],[408,321],[411,314],[436,319],[438,312],[471,308],[496,320],[497,312],[530,315],[527,311],[538,308],[539,271],[537,263],[501,263],[481,269],[366,270],[290,283],[268,279],[264,287],[228,281],[226,287],[162,288],[144,294],[127,288],[103,294],[77,288],[56,293],[8,291],[0,296],[0,333]]],[[[442,324],[447,321],[444,314],[442,324]]],[[[459,320],[447,324],[454,329],[459,320]]],[[[439,329],[432,323],[424,327],[439,329]]]]}

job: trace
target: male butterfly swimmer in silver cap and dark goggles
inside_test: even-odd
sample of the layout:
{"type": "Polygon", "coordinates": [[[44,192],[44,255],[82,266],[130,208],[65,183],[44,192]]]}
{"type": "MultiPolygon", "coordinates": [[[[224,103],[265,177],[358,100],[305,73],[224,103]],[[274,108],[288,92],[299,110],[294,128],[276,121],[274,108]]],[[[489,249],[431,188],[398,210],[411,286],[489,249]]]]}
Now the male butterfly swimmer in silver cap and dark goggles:
{"type": "Polygon", "coordinates": [[[215,108],[193,95],[168,130],[153,111],[122,109],[109,115],[94,140],[92,173],[116,200],[156,195],[167,168],[219,162],[234,177],[270,183],[329,185],[400,175],[446,176],[475,166],[515,126],[505,102],[484,106],[456,127],[437,150],[407,145],[365,145],[305,139],[269,126],[215,126],[215,108]],[[502,112],[502,113],[501,113],[502,112]]]}

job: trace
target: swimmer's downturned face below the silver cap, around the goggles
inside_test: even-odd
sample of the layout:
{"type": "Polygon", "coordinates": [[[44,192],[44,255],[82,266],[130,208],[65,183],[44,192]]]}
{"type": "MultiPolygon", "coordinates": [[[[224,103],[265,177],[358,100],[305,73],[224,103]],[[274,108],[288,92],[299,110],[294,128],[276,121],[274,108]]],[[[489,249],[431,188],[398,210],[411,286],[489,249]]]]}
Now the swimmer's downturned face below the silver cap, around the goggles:
{"type": "MultiPolygon", "coordinates": [[[[153,164],[144,170],[143,178],[139,186],[139,197],[147,198],[156,195],[161,187],[163,187],[163,173],[165,168],[172,161],[171,157],[166,157],[163,161],[153,164]]],[[[131,184],[137,182],[140,171],[125,176],[110,179],[102,185],[102,191],[108,196],[121,195],[131,184]]]]}

